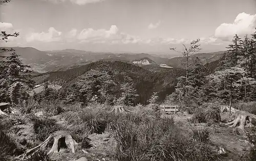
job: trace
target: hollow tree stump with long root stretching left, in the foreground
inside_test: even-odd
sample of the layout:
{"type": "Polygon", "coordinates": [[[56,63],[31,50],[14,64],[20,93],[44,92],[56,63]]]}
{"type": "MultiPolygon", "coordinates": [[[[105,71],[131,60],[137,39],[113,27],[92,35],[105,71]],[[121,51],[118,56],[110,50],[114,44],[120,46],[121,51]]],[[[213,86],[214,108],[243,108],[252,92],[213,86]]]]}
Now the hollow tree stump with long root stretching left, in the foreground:
{"type": "Polygon", "coordinates": [[[55,131],[52,135],[50,135],[40,145],[38,145],[38,146],[36,146],[32,149],[29,149],[24,154],[23,158],[33,154],[34,152],[36,152],[39,149],[45,149],[52,137],[54,138],[54,143],[53,143],[53,146],[52,146],[51,150],[47,153],[47,155],[49,155],[51,153],[58,153],[59,149],[62,146],[69,147],[70,149],[72,149],[72,153],[75,153],[75,146],[74,145],[77,145],[77,142],[71,137],[70,132],[69,131],[55,131]]]}

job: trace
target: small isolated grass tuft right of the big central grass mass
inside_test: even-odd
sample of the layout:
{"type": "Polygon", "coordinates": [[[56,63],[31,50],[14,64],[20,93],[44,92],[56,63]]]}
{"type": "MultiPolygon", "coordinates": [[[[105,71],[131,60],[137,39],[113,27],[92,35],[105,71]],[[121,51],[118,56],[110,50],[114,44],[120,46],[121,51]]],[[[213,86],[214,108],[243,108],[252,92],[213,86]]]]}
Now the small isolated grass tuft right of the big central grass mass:
{"type": "Polygon", "coordinates": [[[209,143],[210,142],[210,131],[208,128],[194,127],[191,132],[191,137],[194,141],[199,143],[209,143]]]}

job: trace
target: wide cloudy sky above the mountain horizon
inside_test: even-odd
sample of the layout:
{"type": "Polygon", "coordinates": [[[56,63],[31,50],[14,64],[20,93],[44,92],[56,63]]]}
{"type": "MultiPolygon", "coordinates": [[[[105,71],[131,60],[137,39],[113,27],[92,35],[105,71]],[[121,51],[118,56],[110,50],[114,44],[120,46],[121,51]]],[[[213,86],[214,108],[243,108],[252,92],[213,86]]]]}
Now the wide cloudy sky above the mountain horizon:
{"type": "Polygon", "coordinates": [[[234,34],[255,32],[255,0],[12,0],[0,30],[20,33],[1,46],[168,53],[201,39],[225,50],[234,34]]]}

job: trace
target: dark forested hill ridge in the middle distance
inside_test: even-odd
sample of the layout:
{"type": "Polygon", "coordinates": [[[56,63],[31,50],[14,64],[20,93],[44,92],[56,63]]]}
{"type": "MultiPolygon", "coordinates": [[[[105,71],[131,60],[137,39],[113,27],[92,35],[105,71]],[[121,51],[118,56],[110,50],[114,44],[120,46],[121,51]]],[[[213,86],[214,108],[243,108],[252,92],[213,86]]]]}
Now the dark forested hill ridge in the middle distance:
{"type": "Polygon", "coordinates": [[[168,68],[162,72],[151,72],[141,67],[120,61],[98,61],[80,67],[68,69],[66,71],[48,72],[34,77],[37,84],[52,82],[62,86],[62,90],[69,88],[77,81],[79,76],[86,74],[90,70],[111,71],[115,75],[117,84],[121,82],[120,75],[127,75],[133,79],[134,87],[139,94],[139,102],[146,104],[153,92],[158,92],[160,100],[166,94],[174,91],[177,77],[184,75],[184,70],[179,68],[168,68]]]}

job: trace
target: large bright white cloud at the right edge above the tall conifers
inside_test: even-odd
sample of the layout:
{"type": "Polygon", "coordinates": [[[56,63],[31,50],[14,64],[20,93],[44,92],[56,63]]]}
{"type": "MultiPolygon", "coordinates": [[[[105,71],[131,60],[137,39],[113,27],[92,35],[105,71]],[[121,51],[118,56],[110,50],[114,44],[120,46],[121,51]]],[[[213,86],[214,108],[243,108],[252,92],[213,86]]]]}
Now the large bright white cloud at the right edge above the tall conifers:
{"type": "Polygon", "coordinates": [[[256,14],[250,15],[247,13],[240,13],[234,19],[233,23],[222,23],[215,30],[215,37],[230,41],[235,34],[244,36],[245,34],[252,34],[256,27],[256,14]]]}

